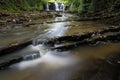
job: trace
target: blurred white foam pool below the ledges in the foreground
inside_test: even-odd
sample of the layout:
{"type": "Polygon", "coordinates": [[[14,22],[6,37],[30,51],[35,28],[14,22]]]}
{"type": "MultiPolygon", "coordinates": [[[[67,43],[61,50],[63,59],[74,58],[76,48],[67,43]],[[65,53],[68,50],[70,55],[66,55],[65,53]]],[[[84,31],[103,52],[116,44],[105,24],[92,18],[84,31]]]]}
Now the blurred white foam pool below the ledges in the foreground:
{"type": "Polygon", "coordinates": [[[57,52],[57,51],[47,51],[41,58],[23,61],[11,66],[11,68],[16,68],[18,70],[27,69],[29,67],[36,67],[37,65],[45,64],[48,68],[61,68],[66,66],[72,66],[76,64],[76,57],[68,55],[70,52],[57,52]],[[63,56],[64,55],[64,56],[63,56]]]}

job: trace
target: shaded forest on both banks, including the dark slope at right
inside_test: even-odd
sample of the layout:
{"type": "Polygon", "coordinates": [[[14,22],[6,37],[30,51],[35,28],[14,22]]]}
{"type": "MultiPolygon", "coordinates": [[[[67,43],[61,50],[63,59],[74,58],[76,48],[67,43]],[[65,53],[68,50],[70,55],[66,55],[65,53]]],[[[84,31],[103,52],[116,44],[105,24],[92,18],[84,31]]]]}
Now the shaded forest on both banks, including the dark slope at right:
{"type": "MultiPolygon", "coordinates": [[[[50,0],[1,0],[0,9],[10,12],[41,11],[50,0]]],[[[102,19],[109,24],[120,23],[120,0],[56,0],[66,5],[69,12],[90,18],[102,19]]]]}

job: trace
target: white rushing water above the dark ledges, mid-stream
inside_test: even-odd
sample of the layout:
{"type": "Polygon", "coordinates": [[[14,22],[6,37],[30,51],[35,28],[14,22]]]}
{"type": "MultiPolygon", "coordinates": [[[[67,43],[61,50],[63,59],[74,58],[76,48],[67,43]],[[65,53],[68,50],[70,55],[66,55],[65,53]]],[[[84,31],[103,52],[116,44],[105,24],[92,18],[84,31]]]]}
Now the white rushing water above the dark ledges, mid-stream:
{"type": "MultiPolygon", "coordinates": [[[[56,17],[55,21],[64,21],[67,17],[56,17]]],[[[45,41],[47,39],[64,36],[68,30],[69,22],[58,22],[51,24],[44,24],[44,26],[49,26],[49,29],[46,29],[44,34],[39,35],[33,40],[33,45],[36,46],[39,41],[45,41]]]]}

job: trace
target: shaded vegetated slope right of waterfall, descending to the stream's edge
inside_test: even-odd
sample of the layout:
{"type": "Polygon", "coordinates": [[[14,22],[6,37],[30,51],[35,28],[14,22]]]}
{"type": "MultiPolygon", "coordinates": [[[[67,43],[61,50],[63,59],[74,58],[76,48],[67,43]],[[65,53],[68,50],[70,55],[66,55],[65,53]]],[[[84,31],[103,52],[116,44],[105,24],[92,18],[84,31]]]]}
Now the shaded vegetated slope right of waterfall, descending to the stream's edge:
{"type": "Polygon", "coordinates": [[[69,0],[71,12],[120,25],[120,0],[69,0]]]}

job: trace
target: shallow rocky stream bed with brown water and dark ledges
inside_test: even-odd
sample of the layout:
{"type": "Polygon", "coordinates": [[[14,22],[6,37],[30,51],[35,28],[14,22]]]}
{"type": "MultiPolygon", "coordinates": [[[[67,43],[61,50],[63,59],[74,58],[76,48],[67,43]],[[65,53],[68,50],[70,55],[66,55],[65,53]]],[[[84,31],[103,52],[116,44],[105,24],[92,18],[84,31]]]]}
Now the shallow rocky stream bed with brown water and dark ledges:
{"type": "Polygon", "coordinates": [[[119,26],[64,15],[12,27],[0,35],[11,43],[1,51],[2,80],[120,79],[119,26]]]}

